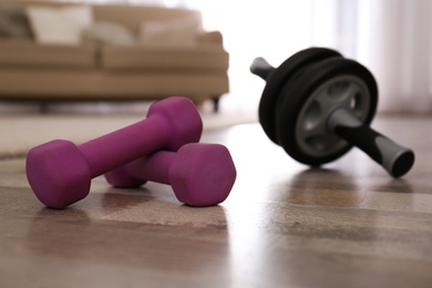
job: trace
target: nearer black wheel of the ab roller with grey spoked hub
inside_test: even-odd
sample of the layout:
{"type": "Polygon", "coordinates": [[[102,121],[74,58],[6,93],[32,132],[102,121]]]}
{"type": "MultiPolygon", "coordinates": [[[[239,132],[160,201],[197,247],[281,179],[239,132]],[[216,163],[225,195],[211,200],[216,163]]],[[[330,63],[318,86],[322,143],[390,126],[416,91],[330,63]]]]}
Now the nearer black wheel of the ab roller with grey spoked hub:
{"type": "Polygon", "coordinates": [[[343,106],[370,124],[378,105],[378,88],[368,69],[343,58],[316,61],[300,72],[278,96],[276,143],[298,162],[318,166],[352,147],[329,131],[329,115],[343,106]]]}

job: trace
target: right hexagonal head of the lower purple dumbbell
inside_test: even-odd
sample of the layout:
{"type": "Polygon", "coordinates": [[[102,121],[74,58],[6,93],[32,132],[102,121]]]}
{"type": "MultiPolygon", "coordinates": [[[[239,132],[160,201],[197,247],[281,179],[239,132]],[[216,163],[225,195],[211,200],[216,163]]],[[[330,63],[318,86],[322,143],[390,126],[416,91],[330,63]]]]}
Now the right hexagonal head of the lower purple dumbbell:
{"type": "Polygon", "coordinates": [[[224,202],[237,172],[229,151],[219,144],[186,144],[169,168],[169,183],[177,199],[191,206],[224,202]]]}

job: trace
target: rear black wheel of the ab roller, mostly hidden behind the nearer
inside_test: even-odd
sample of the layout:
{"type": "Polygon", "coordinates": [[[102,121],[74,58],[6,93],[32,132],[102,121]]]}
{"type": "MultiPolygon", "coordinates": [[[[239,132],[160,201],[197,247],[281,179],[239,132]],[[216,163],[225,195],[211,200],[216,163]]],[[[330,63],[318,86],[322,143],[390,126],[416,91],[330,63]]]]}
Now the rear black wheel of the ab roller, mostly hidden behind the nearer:
{"type": "Polygon", "coordinates": [[[291,55],[270,73],[259,102],[258,116],[265,133],[272,142],[277,143],[276,104],[285,84],[304,68],[335,56],[341,58],[342,55],[327,48],[309,48],[291,55]]]}

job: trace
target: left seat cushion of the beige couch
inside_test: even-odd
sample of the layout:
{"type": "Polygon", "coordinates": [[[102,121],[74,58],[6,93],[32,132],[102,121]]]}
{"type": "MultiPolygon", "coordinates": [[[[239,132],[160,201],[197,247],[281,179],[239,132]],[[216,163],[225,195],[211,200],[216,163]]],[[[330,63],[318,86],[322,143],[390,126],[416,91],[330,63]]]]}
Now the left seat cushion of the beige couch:
{"type": "Polygon", "coordinates": [[[0,65],[25,68],[95,68],[94,47],[39,45],[31,41],[1,41],[0,65]]]}

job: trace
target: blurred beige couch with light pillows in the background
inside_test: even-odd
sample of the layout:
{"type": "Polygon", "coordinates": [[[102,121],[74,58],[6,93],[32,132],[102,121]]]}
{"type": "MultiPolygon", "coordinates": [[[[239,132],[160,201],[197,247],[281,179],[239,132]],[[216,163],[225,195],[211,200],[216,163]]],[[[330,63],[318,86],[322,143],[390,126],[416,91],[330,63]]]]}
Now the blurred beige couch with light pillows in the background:
{"type": "Polygon", "coordinates": [[[200,13],[128,4],[0,0],[0,100],[171,95],[218,109],[228,52],[200,13]]]}

